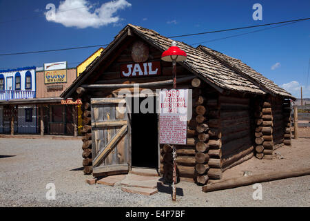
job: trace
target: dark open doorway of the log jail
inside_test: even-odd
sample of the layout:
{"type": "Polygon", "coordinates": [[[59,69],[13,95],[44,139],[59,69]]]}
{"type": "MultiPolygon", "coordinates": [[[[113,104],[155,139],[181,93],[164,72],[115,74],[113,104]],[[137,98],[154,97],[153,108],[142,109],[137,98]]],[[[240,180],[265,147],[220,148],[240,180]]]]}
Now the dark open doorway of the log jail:
{"type": "Polygon", "coordinates": [[[132,166],[158,168],[158,117],[132,113],[132,166]]]}

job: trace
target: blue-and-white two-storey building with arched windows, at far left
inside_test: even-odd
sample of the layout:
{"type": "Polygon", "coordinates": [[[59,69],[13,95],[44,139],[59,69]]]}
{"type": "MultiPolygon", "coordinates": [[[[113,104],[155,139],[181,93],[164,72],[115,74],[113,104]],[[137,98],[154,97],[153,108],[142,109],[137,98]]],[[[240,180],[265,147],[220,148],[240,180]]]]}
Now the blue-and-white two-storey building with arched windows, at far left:
{"type": "Polygon", "coordinates": [[[0,133],[36,133],[35,105],[18,105],[36,97],[36,67],[0,70],[0,133]],[[15,104],[10,104],[13,101],[15,104]],[[17,102],[18,103],[18,102],[17,102]]]}

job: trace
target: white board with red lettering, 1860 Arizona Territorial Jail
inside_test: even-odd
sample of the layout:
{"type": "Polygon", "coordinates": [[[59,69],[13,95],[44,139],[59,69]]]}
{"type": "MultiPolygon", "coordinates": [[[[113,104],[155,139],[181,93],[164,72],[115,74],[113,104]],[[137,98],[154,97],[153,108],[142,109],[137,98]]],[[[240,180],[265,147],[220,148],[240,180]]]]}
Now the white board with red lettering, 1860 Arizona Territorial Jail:
{"type": "Polygon", "coordinates": [[[187,144],[188,90],[161,90],[159,93],[159,143],[187,144]]]}

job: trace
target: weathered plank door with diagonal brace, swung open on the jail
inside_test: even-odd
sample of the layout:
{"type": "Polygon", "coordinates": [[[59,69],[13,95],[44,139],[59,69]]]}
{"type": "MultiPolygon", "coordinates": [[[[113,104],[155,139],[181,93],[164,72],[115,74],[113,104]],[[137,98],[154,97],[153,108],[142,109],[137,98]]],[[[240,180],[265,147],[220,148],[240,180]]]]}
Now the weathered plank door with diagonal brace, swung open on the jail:
{"type": "Polygon", "coordinates": [[[93,174],[127,172],[130,168],[130,136],[125,99],[94,98],[91,107],[93,174]]]}

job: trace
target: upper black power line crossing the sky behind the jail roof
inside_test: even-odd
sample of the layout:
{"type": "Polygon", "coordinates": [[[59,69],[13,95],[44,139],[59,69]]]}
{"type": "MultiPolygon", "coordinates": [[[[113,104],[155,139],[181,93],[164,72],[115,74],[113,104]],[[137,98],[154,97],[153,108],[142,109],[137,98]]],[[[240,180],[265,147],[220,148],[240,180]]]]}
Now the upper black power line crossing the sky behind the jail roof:
{"type": "MultiPolygon", "coordinates": [[[[274,24],[279,24],[279,23],[295,23],[298,21],[306,21],[309,20],[310,18],[304,18],[304,19],[295,19],[291,21],[280,21],[280,22],[275,22],[275,23],[267,23],[267,24],[262,24],[258,26],[246,26],[246,27],[240,27],[240,28],[230,28],[230,29],[224,29],[224,30],[215,30],[211,32],[200,32],[200,33],[194,33],[194,34],[188,34],[188,35],[176,35],[176,36],[170,36],[168,38],[176,38],[176,37],[187,37],[187,36],[194,36],[194,35],[205,35],[205,34],[210,34],[210,33],[216,33],[216,32],[227,32],[231,30],[241,30],[241,29],[246,29],[246,28],[255,28],[255,27],[261,27],[261,26],[271,26],[274,24]]],[[[257,31],[254,31],[257,32],[257,31]]],[[[242,35],[242,34],[240,34],[242,35]]],[[[245,35],[245,33],[243,33],[245,35]]],[[[30,51],[30,52],[16,52],[16,53],[7,53],[7,54],[0,54],[0,56],[8,56],[8,55],[28,55],[28,54],[34,54],[34,53],[41,53],[41,52],[52,52],[52,51],[61,51],[61,50],[75,50],[75,49],[82,49],[82,48],[94,48],[94,47],[99,47],[99,46],[108,46],[109,44],[101,44],[101,45],[96,45],[96,46],[81,46],[81,47],[74,47],[74,48],[61,48],[61,49],[52,49],[52,50],[37,50],[37,51],[30,51]]]]}

